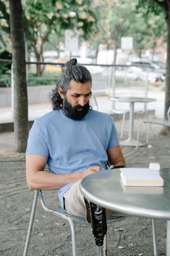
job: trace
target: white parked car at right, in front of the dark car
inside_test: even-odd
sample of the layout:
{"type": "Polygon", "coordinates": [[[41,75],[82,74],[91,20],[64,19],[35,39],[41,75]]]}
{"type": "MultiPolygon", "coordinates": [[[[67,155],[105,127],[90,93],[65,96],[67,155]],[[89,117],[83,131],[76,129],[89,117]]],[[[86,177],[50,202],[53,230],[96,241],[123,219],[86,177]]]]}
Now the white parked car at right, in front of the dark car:
{"type": "MultiPolygon", "coordinates": [[[[117,78],[128,79],[128,80],[138,80],[146,81],[147,80],[147,71],[139,67],[116,67],[115,75],[117,78]]],[[[150,83],[163,82],[164,79],[161,73],[151,72],[148,73],[148,81],[150,83]]]]}

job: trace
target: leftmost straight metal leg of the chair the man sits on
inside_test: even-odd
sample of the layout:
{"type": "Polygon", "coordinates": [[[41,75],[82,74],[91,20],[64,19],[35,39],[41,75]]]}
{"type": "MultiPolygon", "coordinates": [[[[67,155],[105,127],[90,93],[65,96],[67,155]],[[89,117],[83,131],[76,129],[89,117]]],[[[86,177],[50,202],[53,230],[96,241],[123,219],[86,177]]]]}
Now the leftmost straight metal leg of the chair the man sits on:
{"type": "Polygon", "coordinates": [[[37,205],[37,198],[38,198],[38,190],[35,190],[34,201],[33,201],[30,223],[29,223],[29,227],[28,227],[27,239],[26,239],[23,256],[27,256],[27,251],[28,251],[28,246],[29,246],[30,236],[31,236],[31,230],[32,230],[32,225],[33,225],[33,221],[34,221],[35,209],[36,209],[36,205],[37,205]]]}

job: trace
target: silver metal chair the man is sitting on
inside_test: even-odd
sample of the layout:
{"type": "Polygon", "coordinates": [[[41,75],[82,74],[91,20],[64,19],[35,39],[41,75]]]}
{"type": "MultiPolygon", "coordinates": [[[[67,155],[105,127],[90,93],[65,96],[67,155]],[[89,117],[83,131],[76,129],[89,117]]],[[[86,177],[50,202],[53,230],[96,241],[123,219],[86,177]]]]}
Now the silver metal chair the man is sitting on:
{"type": "MultiPolygon", "coordinates": [[[[49,168],[48,168],[47,165],[46,165],[44,170],[49,171],[49,168]]],[[[69,222],[70,227],[71,227],[71,237],[72,237],[72,255],[77,256],[76,232],[75,232],[74,223],[87,224],[87,225],[89,225],[89,224],[86,222],[85,218],[70,215],[70,214],[66,213],[63,209],[48,208],[46,206],[45,202],[44,202],[42,190],[35,190],[33,206],[32,206],[32,211],[31,211],[31,217],[30,217],[30,223],[29,223],[29,228],[28,228],[27,239],[26,239],[26,244],[25,244],[23,256],[27,256],[28,246],[29,246],[29,242],[30,242],[30,236],[31,236],[32,225],[33,225],[33,221],[34,221],[34,214],[35,214],[35,209],[36,209],[38,196],[39,196],[41,205],[42,205],[43,209],[46,212],[49,212],[49,213],[52,213],[52,214],[54,214],[58,217],[64,218],[69,222]]],[[[124,218],[125,217],[123,217],[123,216],[110,216],[110,217],[107,217],[106,220],[107,220],[107,223],[112,223],[112,222],[121,221],[124,218]]],[[[104,253],[104,255],[107,255],[106,235],[104,236],[103,253],[104,253]]]]}

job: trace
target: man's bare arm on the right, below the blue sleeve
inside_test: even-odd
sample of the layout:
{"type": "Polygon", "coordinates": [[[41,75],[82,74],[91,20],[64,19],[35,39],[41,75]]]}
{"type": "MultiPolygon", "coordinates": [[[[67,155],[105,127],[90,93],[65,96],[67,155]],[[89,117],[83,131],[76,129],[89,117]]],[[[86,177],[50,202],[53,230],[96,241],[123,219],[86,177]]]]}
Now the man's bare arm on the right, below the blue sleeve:
{"type": "Polygon", "coordinates": [[[120,148],[120,145],[112,148],[108,148],[107,150],[107,156],[108,156],[108,164],[111,165],[124,165],[126,166],[122,150],[120,148]]]}

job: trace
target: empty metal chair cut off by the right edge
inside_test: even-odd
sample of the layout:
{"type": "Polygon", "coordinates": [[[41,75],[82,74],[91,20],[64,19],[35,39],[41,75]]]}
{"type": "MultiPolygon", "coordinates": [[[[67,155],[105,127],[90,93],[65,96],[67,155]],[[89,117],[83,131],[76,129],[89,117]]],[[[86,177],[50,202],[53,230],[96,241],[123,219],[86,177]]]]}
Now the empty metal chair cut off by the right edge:
{"type": "Polygon", "coordinates": [[[169,109],[167,111],[167,119],[152,118],[152,119],[149,119],[149,120],[140,121],[139,128],[138,128],[138,133],[137,133],[137,140],[136,140],[136,150],[138,148],[140,129],[141,129],[141,124],[142,123],[146,123],[146,124],[148,123],[149,124],[147,138],[146,138],[146,144],[148,144],[151,124],[164,125],[164,126],[169,126],[170,127],[170,106],[169,106],[169,109]]]}

